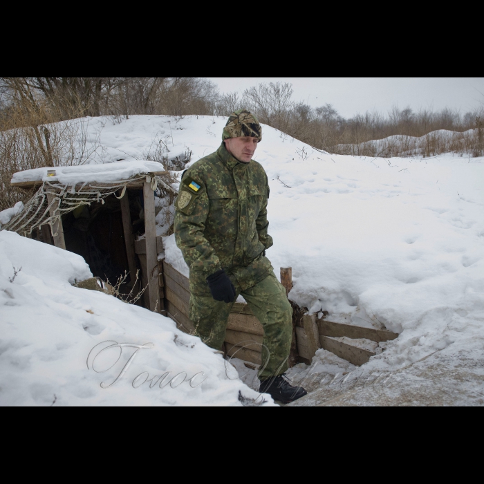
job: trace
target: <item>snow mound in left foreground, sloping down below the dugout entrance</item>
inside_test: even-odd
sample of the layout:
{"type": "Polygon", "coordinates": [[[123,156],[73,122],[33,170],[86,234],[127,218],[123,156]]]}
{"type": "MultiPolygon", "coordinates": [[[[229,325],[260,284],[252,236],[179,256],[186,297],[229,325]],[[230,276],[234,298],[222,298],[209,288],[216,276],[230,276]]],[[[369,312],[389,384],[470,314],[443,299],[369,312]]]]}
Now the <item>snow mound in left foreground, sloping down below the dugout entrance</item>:
{"type": "Polygon", "coordinates": [[[7,231],[0,254],[1,405],[263,402],[171,319],[73,287],[92,277],[82,257],[7,231]]]}

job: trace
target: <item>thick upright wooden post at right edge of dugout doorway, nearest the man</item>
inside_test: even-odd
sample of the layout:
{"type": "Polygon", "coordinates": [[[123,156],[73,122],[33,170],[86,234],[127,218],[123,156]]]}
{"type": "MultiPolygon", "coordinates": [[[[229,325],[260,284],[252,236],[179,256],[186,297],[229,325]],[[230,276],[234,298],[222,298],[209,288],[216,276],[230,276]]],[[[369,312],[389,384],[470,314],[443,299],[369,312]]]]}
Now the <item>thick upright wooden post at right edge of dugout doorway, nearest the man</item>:
{"type": "Polygon", "coordinates": [[[160,312],[160,288],[158,286],[158,254],[156,253],[155,194],[151,183],[143,183],[145,200],[146,268],[148,278],[149,309],[160,312]]]}

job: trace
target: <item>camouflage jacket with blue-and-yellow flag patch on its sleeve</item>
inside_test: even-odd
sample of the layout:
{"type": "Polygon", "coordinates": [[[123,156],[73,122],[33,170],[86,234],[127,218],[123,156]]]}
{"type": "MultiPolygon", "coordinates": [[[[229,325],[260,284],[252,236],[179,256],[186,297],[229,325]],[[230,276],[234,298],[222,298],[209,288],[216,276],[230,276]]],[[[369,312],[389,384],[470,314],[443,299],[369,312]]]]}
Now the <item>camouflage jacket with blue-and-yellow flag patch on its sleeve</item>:
{"type": "Polygon", "coordinates": [[[242,289],[272,270],[266,171],[254,160],[236,160],[222,143],[184,174],[176,199],[176,245],[190,269],[190,290],[210,296],[205,279],[224,269],[242,289]]]}

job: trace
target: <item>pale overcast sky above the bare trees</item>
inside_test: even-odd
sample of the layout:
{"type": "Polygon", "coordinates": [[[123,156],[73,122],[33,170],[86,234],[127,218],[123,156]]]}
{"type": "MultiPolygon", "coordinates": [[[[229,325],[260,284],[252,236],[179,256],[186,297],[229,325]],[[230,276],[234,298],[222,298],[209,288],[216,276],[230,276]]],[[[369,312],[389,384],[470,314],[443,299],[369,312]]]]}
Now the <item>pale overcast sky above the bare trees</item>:
{"type": "Polygon", "coordinates": [[[292,99],[310,106],[333,104],[344,118],[356,113],[410,106],[414,111],[449,107],[462,113],[484,102],[484,77],[208,77],[223,93],[262,82],[290,82],[292,99]]]}

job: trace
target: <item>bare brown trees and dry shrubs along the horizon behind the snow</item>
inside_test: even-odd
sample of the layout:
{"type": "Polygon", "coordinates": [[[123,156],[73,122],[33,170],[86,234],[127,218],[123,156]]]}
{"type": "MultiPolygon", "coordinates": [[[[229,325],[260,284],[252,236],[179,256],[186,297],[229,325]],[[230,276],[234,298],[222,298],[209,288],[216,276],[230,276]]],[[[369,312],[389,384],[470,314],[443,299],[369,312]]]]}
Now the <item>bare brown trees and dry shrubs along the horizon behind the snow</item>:
{"type": "Polygon", "coordinates": [[[386,114],[344,118],[331,104],[313,108],[292,94],[292,84],[281,82],[257,84],[242,95],[221,93],[203,77],[0,77],[0,210],[19,198],[7,186],[13,172],[86,159],[86,133],[55,124],[86,116],[121,122],[131,115],[228,116],[246,108],[282,138],[285,133],[329,153],[484,155],[483,105],[467,113],[392,106],[386,114]]]}

